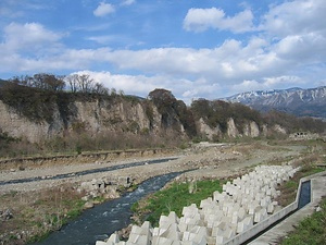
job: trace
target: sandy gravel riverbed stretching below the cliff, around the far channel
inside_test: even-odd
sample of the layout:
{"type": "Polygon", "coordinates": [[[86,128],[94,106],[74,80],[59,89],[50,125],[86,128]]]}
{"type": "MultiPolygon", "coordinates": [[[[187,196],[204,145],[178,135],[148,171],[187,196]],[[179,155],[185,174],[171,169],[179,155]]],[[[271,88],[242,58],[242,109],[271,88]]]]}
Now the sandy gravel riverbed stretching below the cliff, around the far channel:
{"type": "MultiPolygon", "coordinates": [[[[68,166],[48,167],[39,169],[26,169],[24,171],[11,170],[0,172],[0,182],[10,180],[20,180],[26,177],[42,177],[45,180],[21,183],[21,184],[5,184],[0,185],[0,194],[10,191],[28,192],[40,188],[51,188],[63,183],[80,183],[90,181],[92,179],[102,179],[105,176],[130,176],[136,183],[142,182],[151,176],[177,172],[183,170],[191,170],[181,177],[187,179],[221,179],[241,174],[250,167],[260,163],[281,162],[294,159],[304,147],[300,146],[268,146],[265,143],[255,144],[198,144],[186,150],[177,151],[173,156],[165,156],[163,158],[177,158],[163,163],[143,164],[139,167],[125,168],[110,172],[99,172],[87,174],[83,176],[74,176],[75,172],[105,168],[116,164],[128,164],[135,161],[147,161],[143,159],[125,159],[110,162],[89,162],[87,164],[79,164],[75,162],[68,166]],[[48,176],[54,176],[63,173],[72,173],[72,176],[62,180],[47,180],[48,176]]],[[[153,159],[153,158],[151,158],[153,159]]]]}

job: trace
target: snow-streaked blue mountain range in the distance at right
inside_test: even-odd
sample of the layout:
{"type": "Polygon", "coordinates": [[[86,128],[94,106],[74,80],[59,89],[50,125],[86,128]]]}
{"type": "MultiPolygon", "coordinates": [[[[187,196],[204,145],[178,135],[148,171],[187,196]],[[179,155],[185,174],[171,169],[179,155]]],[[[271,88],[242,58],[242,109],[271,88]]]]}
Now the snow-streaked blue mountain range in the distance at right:
{"type": "Polygon", "coordinates": [[[316,88],[289,88],[284,90],[246,91],[225,98],[260,111],[276,109],[298,117],[326,119],[326,86],[316,88]]]}

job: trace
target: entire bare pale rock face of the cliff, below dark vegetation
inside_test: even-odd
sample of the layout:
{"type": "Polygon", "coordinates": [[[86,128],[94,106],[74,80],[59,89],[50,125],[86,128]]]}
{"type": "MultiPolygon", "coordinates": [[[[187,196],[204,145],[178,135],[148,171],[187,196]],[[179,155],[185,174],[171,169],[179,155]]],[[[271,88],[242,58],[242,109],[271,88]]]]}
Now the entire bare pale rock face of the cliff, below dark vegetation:
{"type": "MultiPolygon", "coordinates": [[[[266,135],[268,131],[266,125],[261,130],[253,120],[244,120],[244,123],[239,124],[233,118],[227,118],[225,125],[217,124],[212,127],[203,118],[191,121],[196,117],[191,118],[190,114],[187,114],[186,106],[175,101],[172,107],[163,109],[162,107],[158,109],[158,106],[151,100],[124,98],[76,99],[64,106],[51,102],[46,107],[50,106],[51,117],[48,118],[51,120],[33,120],[0,100],[0,133],[38,143],[57,136],[66,136],[72,132],[87,133],[92,137],[104,135],[108,132],[151,134],[159,137],[168,132],[172,133],[172,137],[187,137],[193,127],[191,136],[216,139],[241,136],[259,137],[266,135]]],[[[281,128],[275,131],[281,132],[281,128]]]]}

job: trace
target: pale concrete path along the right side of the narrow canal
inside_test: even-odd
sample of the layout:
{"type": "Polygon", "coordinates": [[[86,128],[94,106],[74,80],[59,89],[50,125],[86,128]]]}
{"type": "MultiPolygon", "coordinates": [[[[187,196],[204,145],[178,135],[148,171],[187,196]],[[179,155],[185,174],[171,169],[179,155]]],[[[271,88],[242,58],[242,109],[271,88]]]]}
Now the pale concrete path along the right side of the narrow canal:
{"type": "Polygon", "coordinates": [[[326,196],[326,171],[314,174],[306,179],[311,180],[311,203],[265,232],[256,240],[249,243],[249,245],[279,244],[281,237],[285,237],[290,231],[293,231],[294,226],[298,225],[301,220],[311,216],[315,211],[322,197],[326,196]]]}

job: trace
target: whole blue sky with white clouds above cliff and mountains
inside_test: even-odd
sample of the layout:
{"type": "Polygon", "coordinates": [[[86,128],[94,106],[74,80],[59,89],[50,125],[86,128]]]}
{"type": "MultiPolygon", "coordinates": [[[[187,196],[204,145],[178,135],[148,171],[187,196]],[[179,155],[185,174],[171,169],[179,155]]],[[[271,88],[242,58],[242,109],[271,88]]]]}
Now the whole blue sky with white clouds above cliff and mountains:
{"type": "Polygon", "coordinates": [[[326,0],[0,0],[0,78],[88,74],[189,103],[326,85],[326,0]]]}

